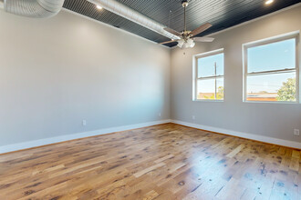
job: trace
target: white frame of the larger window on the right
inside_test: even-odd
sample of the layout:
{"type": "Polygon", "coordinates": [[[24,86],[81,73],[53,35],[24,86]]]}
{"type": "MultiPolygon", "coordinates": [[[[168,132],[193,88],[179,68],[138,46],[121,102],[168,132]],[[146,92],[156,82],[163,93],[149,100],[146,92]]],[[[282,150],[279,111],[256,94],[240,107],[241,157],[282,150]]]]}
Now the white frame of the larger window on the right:
{"type": "Polygon", "coordinates": [[[299,56],[298,56],[298,46],[299,46],[299,31],[295,31],[292,33],[288,33],[285,35],[277,35],[274,37],[265,38],[263,40],[254,41],[251,43],[247,43],[243,45],[243,101],[245,103],[273,103],[273,104],[299,104],[300,102],[300,88],[299,88],[299,56]],[[269,45],[276,42],[285,41],[288,39],[295,39],[296,41],[296,68],[294,69],[280,69],[280,70],[271,70],[271,71],[265,71],[265,72],[254,72],[254,73],[248,73],[248,66],[247,66],[247,49],[254,47],[254,46],[260,46],[260,45],[269,45]],[[283,74],[283,73],[289,73],[289,72],[296,72],[296,102],[289,102],[289,101],[247,101],[247,77],[251,75],[273,75],[273,74],[283,74]]]}

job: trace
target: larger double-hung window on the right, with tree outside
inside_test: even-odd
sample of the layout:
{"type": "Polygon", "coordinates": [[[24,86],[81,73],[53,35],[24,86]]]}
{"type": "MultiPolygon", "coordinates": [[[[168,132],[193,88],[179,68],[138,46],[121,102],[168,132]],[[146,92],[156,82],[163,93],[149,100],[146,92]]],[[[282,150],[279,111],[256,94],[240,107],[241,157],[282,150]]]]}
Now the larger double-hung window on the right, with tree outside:
{"type": "Polygon", "coordinates": [[[244,101],[297,102],[297,34],[244,45],[244,101]]]}

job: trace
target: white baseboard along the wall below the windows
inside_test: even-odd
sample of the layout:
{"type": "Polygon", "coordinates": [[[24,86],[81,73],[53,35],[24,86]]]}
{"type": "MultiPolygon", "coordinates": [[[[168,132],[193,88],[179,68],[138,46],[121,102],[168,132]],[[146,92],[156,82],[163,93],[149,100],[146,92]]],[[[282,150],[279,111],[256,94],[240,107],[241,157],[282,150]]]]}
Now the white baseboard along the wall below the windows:
{"type": "Polygon", "coordinates": [[[275,144],[275,145],[284,145],[284,146],[288,146],[288,147],[292,147],[292,148],[301,149],[301,143],[283,140],[283,139],[277,139],[275,137],[246,134],[246,133],[227,130],[227,129],[223,129],[223,128],[216,128],[216,127],[208,126],[208,125],[197,125],[197,124],[192,124],[192,123],[188,123],[188,122],[182,122],[179,120],[171,120],[171,123],[178,124],[178,125],[186,125],[189,127],[198,128],[198,129],[202,129],[202,130],[206,130],[206,131],[212,131],[215,133],[221,133],[224,135],[234,135],[234,136],[243,137],[246,139],[252,139],[252,140],[256,140],[256,141],[260,141],[260,142],[264,142],[264,143],[270,143],[270,144],[275,144]]]}

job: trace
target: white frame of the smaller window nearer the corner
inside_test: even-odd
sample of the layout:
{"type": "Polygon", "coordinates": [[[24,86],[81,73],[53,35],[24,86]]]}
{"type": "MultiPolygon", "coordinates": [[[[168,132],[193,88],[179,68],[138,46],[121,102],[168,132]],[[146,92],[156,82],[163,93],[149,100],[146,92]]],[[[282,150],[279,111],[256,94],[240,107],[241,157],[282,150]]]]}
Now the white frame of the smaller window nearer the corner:
{"type": "Polygon", "coordinates": [[[199,55],[193,55],[192,56],[192,101],[196,102],[223,102],[224,100],[224,55],[223,55],[223,75],[213,75],[213,76],[208,76],[208,77],[198,77],[198,59],[202,57],[208,57],[212,55],[219,55],[223,54],[223,48],[221,49],[216,49],[210,52],[202,53],[199,55]],[[205,79],[210,79],[210,78],[223,78],[223,99],[198,99],[197,98],[197,84],[198,80],[205,80],[205,79]]]}

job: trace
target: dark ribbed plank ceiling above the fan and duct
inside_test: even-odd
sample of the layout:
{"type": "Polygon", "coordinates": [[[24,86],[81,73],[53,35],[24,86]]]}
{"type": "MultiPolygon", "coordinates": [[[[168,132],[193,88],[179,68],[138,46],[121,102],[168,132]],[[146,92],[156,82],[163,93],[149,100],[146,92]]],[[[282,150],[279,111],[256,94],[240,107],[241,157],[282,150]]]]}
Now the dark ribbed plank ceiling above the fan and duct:
{"type": "MultiPolygon", "coordinates": [[[[181,0],[119,0],[119,2],[149,16],[162,25],[170,26],[179,32],[183,29],[181,0]]],[[[213,27],[201,34],[208,35],[300,2],[301,0],[275,0],[273,4],[265,5],[265,0],[191,0],[187,8],[187,28],[193,30],[199,25],[209,22],[213,24],[213,27]]],[[[99,10],[86,0],[65,0],[64,7],[156,43],[169,40],[169,38],[119,15],[104,9],[99,10]]],[[[176,43],[168,44],[168,46],[173,45],[176,43]]]]}

